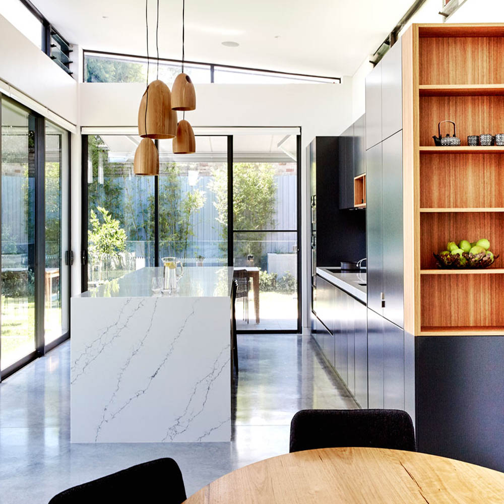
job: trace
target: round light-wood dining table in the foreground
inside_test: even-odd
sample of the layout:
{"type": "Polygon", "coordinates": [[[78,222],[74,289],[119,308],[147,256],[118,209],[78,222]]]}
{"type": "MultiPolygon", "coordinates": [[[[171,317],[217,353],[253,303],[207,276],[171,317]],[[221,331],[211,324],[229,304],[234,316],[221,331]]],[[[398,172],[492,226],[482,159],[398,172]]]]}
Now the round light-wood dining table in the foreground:
{"type": "Polygon", "coordinates": [[[242,467],[187,504],[504,502],[504,473],[424,453],[378,448],[307,450],[242,467]]]}

